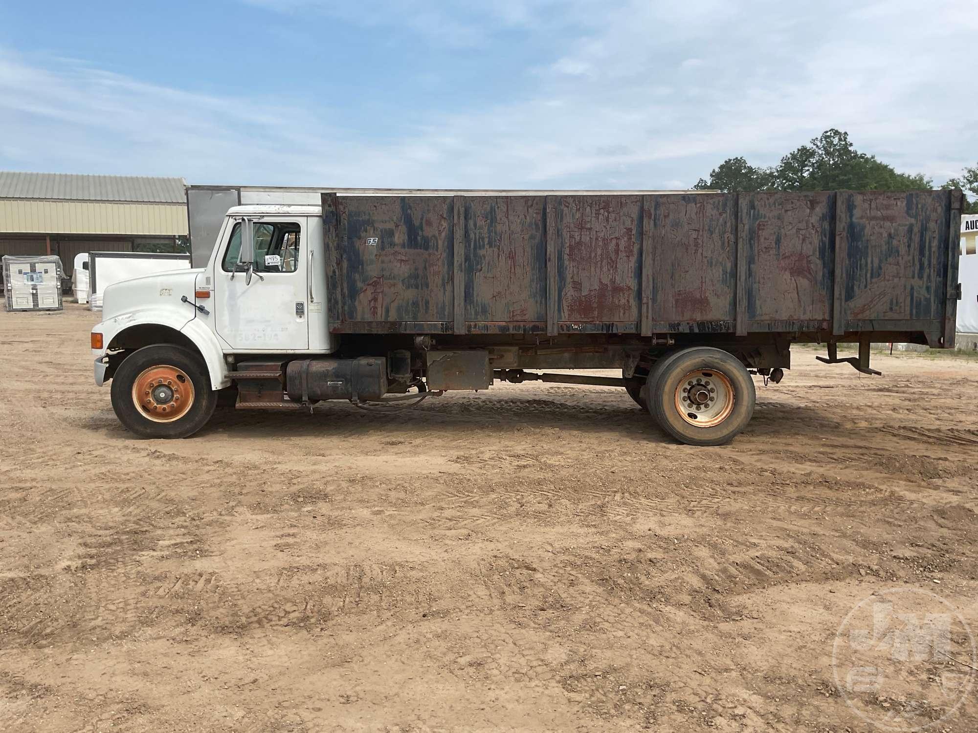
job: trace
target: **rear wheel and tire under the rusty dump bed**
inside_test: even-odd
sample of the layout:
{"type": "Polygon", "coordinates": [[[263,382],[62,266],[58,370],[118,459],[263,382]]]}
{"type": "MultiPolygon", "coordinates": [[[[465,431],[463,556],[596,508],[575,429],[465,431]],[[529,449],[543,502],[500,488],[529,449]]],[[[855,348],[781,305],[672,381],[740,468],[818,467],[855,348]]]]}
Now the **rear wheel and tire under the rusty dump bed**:
{"type": "Polygon", "coordinates": [[[648,385],[649,411],[676,440],[721,446],[750,422],[756,393],[747,369],[720,349],[685,349],[666,358],[648,385]]]}

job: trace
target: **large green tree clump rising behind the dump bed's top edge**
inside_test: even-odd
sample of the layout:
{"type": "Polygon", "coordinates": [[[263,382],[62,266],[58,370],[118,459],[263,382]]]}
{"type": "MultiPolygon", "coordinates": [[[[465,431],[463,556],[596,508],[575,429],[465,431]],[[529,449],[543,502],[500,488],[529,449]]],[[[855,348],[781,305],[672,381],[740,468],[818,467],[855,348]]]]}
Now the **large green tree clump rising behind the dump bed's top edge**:
{"type": "MultiPolygon", "coordinates": [[[[978,181],[976,181],[978,185],[978,181]]],[[[808,145],[784,155],[773,168],[758,168],[743,157],[728,158],[700,179],[696,189],[719,191],[912,191],[931,188],[922,175],[898,173],[875,155],[857,151],[849,134],[825,130],[808,145]]]]}

